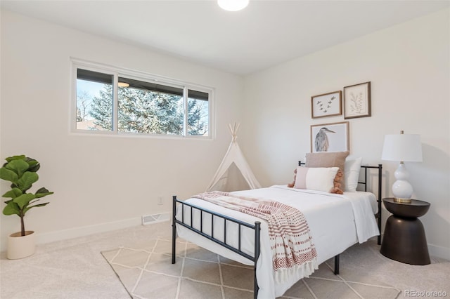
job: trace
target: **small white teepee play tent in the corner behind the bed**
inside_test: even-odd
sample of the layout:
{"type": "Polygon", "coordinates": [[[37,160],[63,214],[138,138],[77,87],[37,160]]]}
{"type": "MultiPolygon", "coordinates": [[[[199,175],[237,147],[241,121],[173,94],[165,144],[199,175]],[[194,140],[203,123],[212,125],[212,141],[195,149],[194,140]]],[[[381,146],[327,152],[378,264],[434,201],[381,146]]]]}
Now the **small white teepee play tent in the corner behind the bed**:
{"type": "Polygon", "coordinates": [[[233,126],[229,124],[232,136],[231,144],[214,178],[212,178],[210,186],[207,187],[207,191],[219,190],[230,192],[261,188],[236,140],[238,138],[239,126],[236,123],[233,126]]]}

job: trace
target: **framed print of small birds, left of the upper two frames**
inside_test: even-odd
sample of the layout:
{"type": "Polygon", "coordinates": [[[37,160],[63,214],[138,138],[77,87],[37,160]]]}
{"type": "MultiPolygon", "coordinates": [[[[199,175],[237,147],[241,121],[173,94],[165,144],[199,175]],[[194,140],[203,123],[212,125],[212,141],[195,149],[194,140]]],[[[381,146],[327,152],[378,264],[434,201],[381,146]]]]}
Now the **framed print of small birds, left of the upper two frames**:
{"type": "Polygon", "coordinates": [[[342,114],[341,105],[342,91],[323,93],[311,97],[311,117],[333,117],[342,114]]]}

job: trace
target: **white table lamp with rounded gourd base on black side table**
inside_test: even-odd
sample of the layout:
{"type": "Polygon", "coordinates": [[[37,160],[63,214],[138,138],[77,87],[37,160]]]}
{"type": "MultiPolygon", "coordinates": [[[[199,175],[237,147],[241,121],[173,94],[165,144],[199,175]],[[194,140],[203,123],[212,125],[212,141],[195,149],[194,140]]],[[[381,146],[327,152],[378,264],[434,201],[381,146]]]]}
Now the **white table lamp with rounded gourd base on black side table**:
{"type": "Polygon", "coordinates": [[[399,168],[397,168],[397,171],[394,173],[397,180],[394,182],[394,185],[392,185],[392,194],[394,194],[394,201],[407,204],[411,203],[413,187],[407,181],[409,173],[404,166],[404,161],[422,161],[420,135],[404,134],[403,131],[400,131],[400,134],[385,135],[381,159],[387,161],[400,161],[399,168]]]}

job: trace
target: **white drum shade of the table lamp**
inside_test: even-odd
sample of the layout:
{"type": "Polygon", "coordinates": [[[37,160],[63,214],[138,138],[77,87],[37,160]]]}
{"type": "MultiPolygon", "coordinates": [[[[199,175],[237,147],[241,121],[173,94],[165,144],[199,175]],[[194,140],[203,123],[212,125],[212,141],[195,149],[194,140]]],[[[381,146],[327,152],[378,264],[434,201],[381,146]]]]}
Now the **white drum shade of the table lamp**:
{"type": "Polygon", "coordinates": [[[422,145],[418,134],[385,135],[381,159],[387,161],[422,161],[422,145]]]}

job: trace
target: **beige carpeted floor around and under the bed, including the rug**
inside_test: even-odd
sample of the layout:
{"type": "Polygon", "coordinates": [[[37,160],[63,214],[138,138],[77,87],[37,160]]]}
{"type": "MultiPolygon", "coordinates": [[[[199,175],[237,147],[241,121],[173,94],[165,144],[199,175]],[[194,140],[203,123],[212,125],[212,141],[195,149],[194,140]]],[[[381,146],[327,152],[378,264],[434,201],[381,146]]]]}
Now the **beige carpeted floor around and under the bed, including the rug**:
{"type": "MultiPolygon", "coordinates": [[[[141,265],[139,260],[144,260],[141,269],[114,266],[118,273],[127,270],[131,273],[120,274],[120,278],[130,292],[134,290],[135,298],[139,298],[138,295],[152,299],[176,298],[178,293],[179,299],[209,299],[214,298],[211,294],[217,294],[218,290],[218,298],[223,298],[222,284],[225,298],[251,297],[248,291],[252,288],[252,278],[248,278],[252,277],[251,270],[240,268],[229,260],[220,260],[219,264],[217,256],[195,249],[191,244],[185,244],[185,248],[178,246],[179,258],[172,265],[167,255],[170,234],[171,226],[167,221],[41,244],[34,255],[21,260],[7,260],[6,253],[2,252],[0,298],[129,299],[129,293],[101,252],[113,263],[124,263],[125,255],[136,256],[135,263],[130,265],[141,265]],[[124,246],[148,252],[135,252],[124,246]],[[116,256],[116,253],[119,254],[116,256]],[[198,271],[200,268],[203,270],[198,271]],[[136,285],[139,275],[141,279],[136,285]],[[140,288],[146,280],[158,284],[155,288],[140,288]],[[164,291],[158,291],[161,289],[164,291]]],[[[431,257],[430,265],[406,265],[385,258],[379,251],[380,246],[374,241],[352,246],[341,255],[339,276],[333,274],[333,260],[330,260],[328,265],[321,265],[312,277],[302,279],[283,297],[394,298],[399,291],[397,298],[411,298],[411,291],[444,291],[447,297],[450,296],[449,260],[431,257]]]]}

